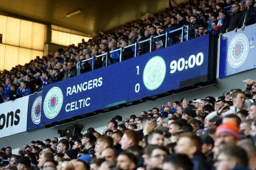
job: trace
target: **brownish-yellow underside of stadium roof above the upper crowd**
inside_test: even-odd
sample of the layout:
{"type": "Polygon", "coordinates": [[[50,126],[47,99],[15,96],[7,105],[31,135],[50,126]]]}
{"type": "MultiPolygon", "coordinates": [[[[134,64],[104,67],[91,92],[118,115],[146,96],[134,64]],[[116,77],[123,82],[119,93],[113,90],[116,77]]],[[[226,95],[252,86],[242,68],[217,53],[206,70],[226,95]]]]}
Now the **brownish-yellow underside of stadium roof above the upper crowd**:
{"type": "Polygon", "coordinates": [[[92,35],[140,19],[147,12],[161,11],[168,3],[169,0],[0,0],[0,10],[92,35]],[[79,14],[66,17],[78,10],[79,14]]]}

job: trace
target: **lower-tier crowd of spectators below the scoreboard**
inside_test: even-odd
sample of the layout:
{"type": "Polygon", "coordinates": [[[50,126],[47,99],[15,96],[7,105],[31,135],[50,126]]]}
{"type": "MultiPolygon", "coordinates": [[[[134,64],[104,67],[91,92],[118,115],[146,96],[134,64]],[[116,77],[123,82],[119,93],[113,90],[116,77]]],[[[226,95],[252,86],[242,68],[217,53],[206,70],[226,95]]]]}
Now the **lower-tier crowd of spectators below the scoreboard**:
{"type": "MultiPolygon", "coordinates": [[[[255,170],[256,80],[216,100],[168,102],[90,127],[0,150],[1,170],[255,170]],[[139,115],[140,113],[140,115],[139,115]]],[[[36,138],[35,138],[36,139],[36,138]]],[[[22,141],[21,141],[22,143],[22,141]]]]}

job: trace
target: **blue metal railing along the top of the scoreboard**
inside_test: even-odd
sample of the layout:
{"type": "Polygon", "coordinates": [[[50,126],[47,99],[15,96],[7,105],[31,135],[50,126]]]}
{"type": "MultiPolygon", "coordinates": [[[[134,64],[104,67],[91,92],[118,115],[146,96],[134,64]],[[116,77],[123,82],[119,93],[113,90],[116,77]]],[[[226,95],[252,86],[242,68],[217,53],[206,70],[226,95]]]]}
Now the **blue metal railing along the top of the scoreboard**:
{"type": "MultiPolygon", "coordinates": [[[[119,54],[119,62],[122,62],[122,53],[123,53],[123,50],[126,49],[126,48],[134,47],[133,57],[137,57],[138,56],[138,54],[137,54],[138,53],[138,46],[141,45],[142,43],[144,43],[144,44],[145,43],[150,43],[150,45],[149,45],[149,53],[151,53],[152,52],[152,47],[155,46],[156,40],[158,40],[158,39],[162,40],[162,43],[164,41],[163,46],[159,48],[159,49],[162,49],[164,47],[166,48],[166,47],[168,47],[170,45],[174,45],[176,43],[180,43],[180,42],[183,42],[183,41],[188,41],[188,37],[189,37],[189,25],[186,25],[186,26],[180,27],[178,29],[174,29],[172,31],[167,31],[166,33],[163,33],[161,35],[157,35],[155,37],[150,37],[149,39],[145,39],[143,41],[136,42],[136,43],[128,45],[126,47],[121,47],[119,49],[115,49],[113,51],[108,51],[107,53],[104,53],[104,54],[101,54],[101,55],[93,56],[90,59],[85,59],[85,60],[79,61],[77,63],[77,75],[81,74],[82,63],[84,63],[84,62],[91,61],[89,63],[90,66],[91,66],[91,70],[94,70],[95,69],[95,59],[97,59],[99,57],[106,56],[106,60],[105,60],[106,63],[105,63],[104,66],[108,66],[109,65],[109,63],[108,63],[109,60],[108,59],[109,59],[109,57],[110,57],[110,55],[112,53],[119,52],[120,53],[119,54]],[[172,34],[174,34],[175,32],[180,33],[180,31],[181,31],[181,35],[177,35],[176,37],[175,36],[173,37],[172,34]],[[162,37],[164,37],[164,38],[162,38],[162,37]],[[172,39],[179,39],[178,37],[181,37],[181,39],[178,40],[178,42],[175,41],[175,43],[173,43],[172,39]]],[[[158,49],[155,49],[155,50],[158,50],[158,49]]],[[[145,53],[143,53],[143,54],[145,54],[145,53]]],[[[143,55],[143,54],[140,54],[140,55],[143,55]]]]}

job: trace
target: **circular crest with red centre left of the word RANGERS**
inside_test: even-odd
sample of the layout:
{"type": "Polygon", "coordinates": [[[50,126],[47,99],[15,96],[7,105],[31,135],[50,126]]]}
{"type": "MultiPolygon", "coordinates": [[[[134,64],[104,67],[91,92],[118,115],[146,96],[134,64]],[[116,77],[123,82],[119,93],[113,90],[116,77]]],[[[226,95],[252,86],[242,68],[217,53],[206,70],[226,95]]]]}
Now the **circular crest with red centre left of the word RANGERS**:
{"type": "Polygon", "coordinates": [[[48,119],[53,119],[60,113],[62,104],[63,94],[60,88],[51,88],[44,98],[44,115],[48,119]]]}

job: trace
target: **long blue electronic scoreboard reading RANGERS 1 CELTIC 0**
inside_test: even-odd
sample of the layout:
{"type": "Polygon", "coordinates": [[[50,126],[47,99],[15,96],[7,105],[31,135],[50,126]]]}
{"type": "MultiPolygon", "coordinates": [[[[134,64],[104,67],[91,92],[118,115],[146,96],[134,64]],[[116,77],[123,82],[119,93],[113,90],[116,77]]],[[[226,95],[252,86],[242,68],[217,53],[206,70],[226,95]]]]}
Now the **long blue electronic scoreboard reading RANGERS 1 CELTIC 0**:
{"type": "Polygon", "coordinates": [[[44,86],[42,123],[208,80],[209,35],[44,86]]]}

